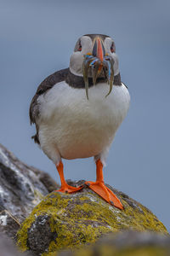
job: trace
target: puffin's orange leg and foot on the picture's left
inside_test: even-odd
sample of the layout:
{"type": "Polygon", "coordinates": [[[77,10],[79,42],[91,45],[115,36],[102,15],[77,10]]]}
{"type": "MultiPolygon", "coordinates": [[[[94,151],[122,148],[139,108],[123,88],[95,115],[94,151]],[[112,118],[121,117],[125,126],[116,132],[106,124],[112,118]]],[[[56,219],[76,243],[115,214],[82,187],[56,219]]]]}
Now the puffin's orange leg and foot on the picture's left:
{"type": "Polygon", "coordinates": [[[63,163],[60,161],[59,162],[59,166],[56,166],[57,170],[59,172],[59,177],[60,177],[60,181],[61,181],[61,188],[59,190],[55,190],[55,192],[63,192],[63,193],[75,193],[78,190],[82,189],[82,186],[75,188],[75,187],[71,187],[69,186],[66,181],[65,181],[65,177],[64,177],[64,172],[63,172],[63,163]]]}

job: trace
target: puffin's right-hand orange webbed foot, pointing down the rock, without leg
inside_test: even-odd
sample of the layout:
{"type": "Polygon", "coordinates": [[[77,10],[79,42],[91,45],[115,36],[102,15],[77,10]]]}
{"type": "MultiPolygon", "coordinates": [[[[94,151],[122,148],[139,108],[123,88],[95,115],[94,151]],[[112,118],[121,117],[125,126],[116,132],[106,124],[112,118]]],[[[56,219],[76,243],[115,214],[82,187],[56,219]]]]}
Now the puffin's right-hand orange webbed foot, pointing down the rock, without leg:
{"type": "Polygon", "coordinates": [[[112,206],[117,207],[121,210],[123,209],[121,201],[116,197],[116,195],[111,191],[111,189],[105,186],[104,182],[88,181],[85,184],[87,184],[90,189],[94,190],[95,193],[100,195],[105,201],[110,203],[112,206]]]}

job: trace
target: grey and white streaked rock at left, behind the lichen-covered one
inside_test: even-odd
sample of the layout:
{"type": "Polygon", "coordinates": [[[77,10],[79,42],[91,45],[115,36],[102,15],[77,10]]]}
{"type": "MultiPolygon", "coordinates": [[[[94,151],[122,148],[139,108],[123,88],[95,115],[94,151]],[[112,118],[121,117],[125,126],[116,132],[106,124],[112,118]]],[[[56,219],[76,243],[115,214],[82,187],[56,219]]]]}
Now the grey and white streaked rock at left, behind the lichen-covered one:
{"type": "Polygon", "coordinates": [[[20,223],[56,188],[47,173],[27,166],[0,144],[0,231],[14,238],[20,223]]]}

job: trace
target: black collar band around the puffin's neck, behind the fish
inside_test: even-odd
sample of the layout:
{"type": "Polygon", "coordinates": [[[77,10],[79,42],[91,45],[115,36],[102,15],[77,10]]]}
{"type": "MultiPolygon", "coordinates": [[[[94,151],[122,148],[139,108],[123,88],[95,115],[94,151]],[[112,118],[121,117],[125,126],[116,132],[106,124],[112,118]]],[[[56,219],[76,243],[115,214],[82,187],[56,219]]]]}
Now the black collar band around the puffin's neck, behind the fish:
{"type": "MultiPolygon", "coordinates": [[[[74,88],[80,88],[80,89],[85,88],[83,77],[77,76],[77,75],[71,73],[70,69],[69,69],[68,74],[65,78],[65,82],[67,84],[69,84],[71,87],[74,87],[74,88]]],[[[100,83],[107,83],[107,79],[98,78],[96,80],[96,85],[100,84],[100,83]]],[[[118,73],[116,76],[114,76],[114,85],[116,85],[116,86],[121,86],[122,85],[120,73],[118,73]]],[[[92,86],[94,86],[93,79],[88,78],[88,87],[92,87],[92,86]]]]}

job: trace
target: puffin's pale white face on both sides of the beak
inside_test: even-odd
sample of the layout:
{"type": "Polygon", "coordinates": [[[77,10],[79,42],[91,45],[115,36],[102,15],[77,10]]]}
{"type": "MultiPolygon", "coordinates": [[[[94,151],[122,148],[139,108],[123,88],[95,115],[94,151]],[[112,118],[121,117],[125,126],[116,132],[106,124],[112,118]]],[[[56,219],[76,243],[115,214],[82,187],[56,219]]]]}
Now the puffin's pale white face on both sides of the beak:
{"type": "MultiPolygon", "coordinates": [[[[98,36],[98,35],[96,35],[98,36]]],[[[99,37],[99,36],[98,36],[99,37]]],[[[114,75],[119,73],[118,67],[118,57],[115,53],[115,43],[112,38],[106,37],[104,40],[101,38],[103,45],[105,47],[105,54],[110,55],[114,60],[114,75]]],[[[82,36],[77,41],[74,52],[70,59],[70,70],[71,73],[82,76],[82,62],[84,61],[84,55],[88,53],[92,54],[94,47],[94,40],[88,36],[82,36]]]]}

